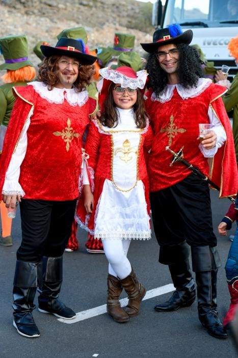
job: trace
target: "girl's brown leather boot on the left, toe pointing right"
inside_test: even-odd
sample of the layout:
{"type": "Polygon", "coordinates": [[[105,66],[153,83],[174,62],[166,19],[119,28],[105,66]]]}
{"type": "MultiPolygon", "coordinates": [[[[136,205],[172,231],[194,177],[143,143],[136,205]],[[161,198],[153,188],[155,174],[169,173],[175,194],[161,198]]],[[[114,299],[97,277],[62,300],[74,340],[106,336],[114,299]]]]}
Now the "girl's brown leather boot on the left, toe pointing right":
{"type": "Polygon", "coordinates": [[[114,321],[118,323],[128,322],[129,316],[121,308],[119,296],[122,292],[122,285],[119,279],[115,276],[108,275],[108,297],[107,297],[107,312],[114,321]]]}

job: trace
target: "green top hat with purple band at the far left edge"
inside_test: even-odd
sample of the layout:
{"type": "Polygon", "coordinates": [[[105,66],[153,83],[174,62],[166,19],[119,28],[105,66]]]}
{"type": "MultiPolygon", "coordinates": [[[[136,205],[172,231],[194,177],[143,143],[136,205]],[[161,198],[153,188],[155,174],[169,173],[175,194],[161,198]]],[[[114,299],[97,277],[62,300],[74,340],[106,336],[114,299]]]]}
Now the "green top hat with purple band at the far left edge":
{"type": "Polygon", "coordinates": [[[34,67],[28,59],[27,36],[0,37],[0,50],[5,59],[5,63],[0,65],[0,70],[18,70],[28,65],[34,67]]]}

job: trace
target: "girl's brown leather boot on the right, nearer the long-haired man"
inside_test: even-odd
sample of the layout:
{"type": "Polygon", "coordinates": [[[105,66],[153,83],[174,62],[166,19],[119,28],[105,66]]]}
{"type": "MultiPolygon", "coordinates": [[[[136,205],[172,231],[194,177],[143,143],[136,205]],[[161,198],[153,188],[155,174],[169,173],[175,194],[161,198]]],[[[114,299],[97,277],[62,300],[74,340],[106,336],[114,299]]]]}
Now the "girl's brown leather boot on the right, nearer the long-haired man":
{"type": "Polygon", "coordinates": [[[134,317],[139,314],[141,301],[146,294],[145,287],[138,281],[133,270],[129,276],[120,280],[125,292],[128,295],[129,302],[125,307],[125,312],[129,317],[134,317]]]}

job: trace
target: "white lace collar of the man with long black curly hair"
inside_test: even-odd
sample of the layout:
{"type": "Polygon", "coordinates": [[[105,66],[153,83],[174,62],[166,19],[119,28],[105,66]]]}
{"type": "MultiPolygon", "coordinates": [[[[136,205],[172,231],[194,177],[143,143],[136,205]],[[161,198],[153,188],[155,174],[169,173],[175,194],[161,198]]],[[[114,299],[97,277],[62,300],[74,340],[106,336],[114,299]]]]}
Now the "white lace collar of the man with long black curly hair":
{"type": "Polygon", "coordinates": [[[184,88],[181,84],[167,84],[164,92],[157,98],[153,92],[151,95],[151,101],[159,101],[165,103],[171,100],[173,97],[174,88],[176,87],[179,96],[182,99],[194,98],[199,96],[205,91],[207,87],[212,83],[209,78],[199,78],[196,87],[184,88]]]}

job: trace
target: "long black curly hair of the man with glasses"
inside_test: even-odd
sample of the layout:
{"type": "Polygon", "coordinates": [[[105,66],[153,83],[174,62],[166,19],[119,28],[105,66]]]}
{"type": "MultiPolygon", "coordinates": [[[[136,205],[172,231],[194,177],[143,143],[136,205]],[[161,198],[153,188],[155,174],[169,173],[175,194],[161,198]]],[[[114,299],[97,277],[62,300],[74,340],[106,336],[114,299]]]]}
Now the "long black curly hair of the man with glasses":
{"type": "MultiPolygon", "coordinates": [[[[179,84],[185,88],[192,86],[196,87],[198,79],[204,77],[202,70],[202,61],[200,60],[198,51],[184,43],[177,45],[179,50],[179,64],[178,64],[178,79],[179,84]]],[[[146,70],[149,74],[149,81],[147,87],[153,88],[155,95],[158,97],[163,93],[167,83],[167,73],[161,68],[158,63],[156,53],[150,54],[146,70]]]]}

